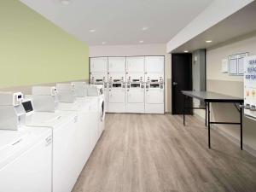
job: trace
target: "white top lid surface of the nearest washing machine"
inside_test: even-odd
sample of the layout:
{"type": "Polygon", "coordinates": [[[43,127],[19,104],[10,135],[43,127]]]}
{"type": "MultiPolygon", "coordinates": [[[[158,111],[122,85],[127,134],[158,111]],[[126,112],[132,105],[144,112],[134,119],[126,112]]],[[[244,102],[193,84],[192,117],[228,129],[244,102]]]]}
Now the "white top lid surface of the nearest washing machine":
{"type": "Polygon", "coordinates": [[[51,139],[49,128],[22,126],[19,131],[0,130],[0,169],[40,142],[44,136],[51,139]]]}

